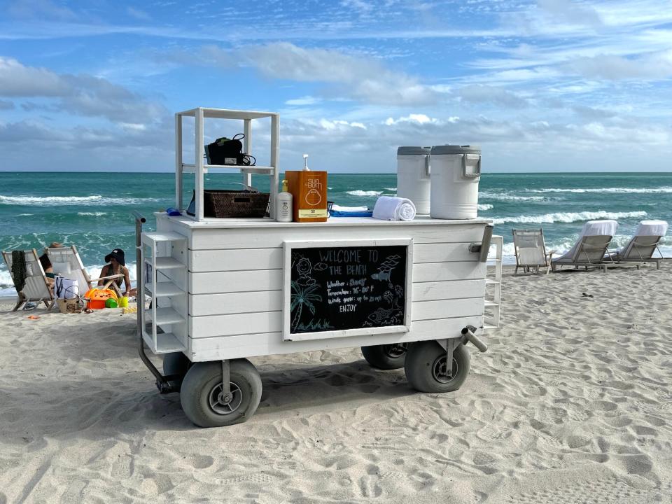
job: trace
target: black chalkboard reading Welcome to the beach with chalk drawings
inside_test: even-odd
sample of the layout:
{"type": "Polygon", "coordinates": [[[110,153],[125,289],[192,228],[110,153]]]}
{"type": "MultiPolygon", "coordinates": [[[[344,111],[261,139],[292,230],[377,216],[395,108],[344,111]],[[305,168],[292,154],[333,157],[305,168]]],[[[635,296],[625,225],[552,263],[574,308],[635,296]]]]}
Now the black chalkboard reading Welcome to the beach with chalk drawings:
{"type": "Polygon", "coordinates": [[[290,333],[404,325],[407,246],[293,248],[290,333]]]}

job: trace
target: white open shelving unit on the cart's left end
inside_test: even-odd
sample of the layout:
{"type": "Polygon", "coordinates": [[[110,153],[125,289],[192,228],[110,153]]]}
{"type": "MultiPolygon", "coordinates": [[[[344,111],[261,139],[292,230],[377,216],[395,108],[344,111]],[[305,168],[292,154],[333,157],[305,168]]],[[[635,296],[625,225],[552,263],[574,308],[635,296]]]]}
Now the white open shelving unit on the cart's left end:
{"type": "Polygon", "coordinates": [[[141,309],[142,337],[154,353],[186,350],[187,238],[174,232],[145,232],[141,260],[145,294],[151,307],[141,309]]]}

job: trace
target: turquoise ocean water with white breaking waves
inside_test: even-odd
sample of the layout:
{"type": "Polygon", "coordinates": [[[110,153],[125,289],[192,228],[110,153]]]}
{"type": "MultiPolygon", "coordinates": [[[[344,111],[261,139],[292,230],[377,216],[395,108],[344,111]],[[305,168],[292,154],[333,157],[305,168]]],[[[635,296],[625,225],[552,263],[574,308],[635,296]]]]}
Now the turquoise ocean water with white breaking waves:
{"type": "MultiPolygon", "coordinates": [[[[0,172],[0,248],[41,248],[52,241],[76,244],[90,274],[97,275],[112,248],[126,251],[134,265],[132,210],[148,217],[174,204],[174,174],[0,172]]],[[[210,188],[237,188],[236,174],[209,174],[210,188]]],[[[185,176],[185,199],[193,176],[185,176]]],[[[192,186],[190,186],[192,183],[192,186]]],[[[254,176],[260,190],[267,177],[254,176]]],[[[329,200],[344,206],[374,205],[379,195],[395,195],[395,174],[330,174],[329,200]]],[[[614,247],[626,244],[639,221],[672,222],[671,174],[484,174],[479,215],[492,218],[505,239],[505,262],[514,262],[513,228],[543,228],[547,248],[570,248],[584,221],[619,222],[614,247]]],[[[672,239],[663,244],[672,255],[672,239]]],[[[131,267],[132,276],[134,268],[131,267]]],[[[4,263],[0,295],[13,294],[4,263]]]]}

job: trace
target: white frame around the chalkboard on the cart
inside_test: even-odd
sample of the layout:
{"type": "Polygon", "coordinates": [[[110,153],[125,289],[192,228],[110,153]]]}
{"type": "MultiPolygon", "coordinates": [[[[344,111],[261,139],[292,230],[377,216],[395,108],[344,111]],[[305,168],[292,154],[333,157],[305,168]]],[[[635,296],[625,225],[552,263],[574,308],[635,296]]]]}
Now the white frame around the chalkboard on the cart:
{"type": "Polygon", "coordinates": [[[412,321],[412,292],[413,292],[413,239],[370,239],[370,240],[323,240],[323,241],[285,241],[284,242],[284,269],[283,269],[283,341],[304,341],[312,339],[329,339],[335,337],[365,336],[376,334],[393,334],[409,332],[412,321]],[[291,301],[291,265],[292,251],[295,248],[321,247],[360,247],[360,246],[406,246],[406,285],[405,309],[403,325],[386,325],[384,327],[340,329],[319,332],[290,332],[290,301],[291,301]]]}

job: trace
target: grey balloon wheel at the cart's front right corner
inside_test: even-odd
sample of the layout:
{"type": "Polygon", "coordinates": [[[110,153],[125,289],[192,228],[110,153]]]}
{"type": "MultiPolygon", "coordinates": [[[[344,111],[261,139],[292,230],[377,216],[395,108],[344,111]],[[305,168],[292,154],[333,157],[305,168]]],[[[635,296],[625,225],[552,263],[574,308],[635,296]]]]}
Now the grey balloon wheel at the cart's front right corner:
{"type": "Polygon", "coordinates": [[[435,341],[409,344],[405,372],[409,384],[420,392],[452,392],[469,374],[469,351],[459,344],[453,351],[451,373],[447,372],[446,351],[435,341]]]}

